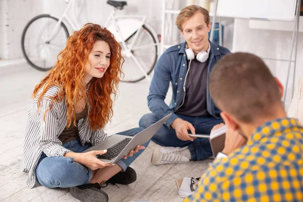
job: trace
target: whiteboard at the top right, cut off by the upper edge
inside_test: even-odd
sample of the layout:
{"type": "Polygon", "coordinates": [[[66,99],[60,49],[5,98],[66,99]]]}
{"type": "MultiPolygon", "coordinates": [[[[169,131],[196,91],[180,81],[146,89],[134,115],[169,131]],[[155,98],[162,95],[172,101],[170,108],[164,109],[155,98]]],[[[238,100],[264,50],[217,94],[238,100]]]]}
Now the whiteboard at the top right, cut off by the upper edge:
{"type": "Polygon", "coordinates": [[[217,16],[293,21],[296,0],[218,0],[217,16]]]}

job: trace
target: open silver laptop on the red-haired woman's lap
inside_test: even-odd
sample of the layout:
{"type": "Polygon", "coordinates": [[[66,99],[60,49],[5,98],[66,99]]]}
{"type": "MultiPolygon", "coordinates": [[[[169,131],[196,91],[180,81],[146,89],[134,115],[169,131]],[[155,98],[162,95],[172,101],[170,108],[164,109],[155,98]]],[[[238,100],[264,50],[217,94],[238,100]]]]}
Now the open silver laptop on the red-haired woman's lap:
{"type": "Polygon", "coordinates": [[[107,149],[108,151],[106,154],[96,155],[96,158],[103,162],[114,164],[124,156],[128,155],[129,151],[132,149],[134,150],[137,145],[142,145],[150,140],[171,115],[172,113],[134,136],[119,134],[111,135],[99,144],[91,146],[90,148],[82,151],[82,153],[92,150],[107,149]]]}

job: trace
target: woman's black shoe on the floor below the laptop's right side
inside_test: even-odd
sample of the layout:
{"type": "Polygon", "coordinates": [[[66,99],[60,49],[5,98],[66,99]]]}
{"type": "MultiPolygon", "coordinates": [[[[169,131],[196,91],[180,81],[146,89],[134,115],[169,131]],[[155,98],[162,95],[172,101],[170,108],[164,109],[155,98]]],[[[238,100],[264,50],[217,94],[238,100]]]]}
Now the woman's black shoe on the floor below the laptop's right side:
{"type": "Polygon", "coordinates": [[[126,171],[119,172],[110,178],[107,182],[111,184],[130,184],[137,180],[137,174],[134,169],[128,167],[126,171]]]}

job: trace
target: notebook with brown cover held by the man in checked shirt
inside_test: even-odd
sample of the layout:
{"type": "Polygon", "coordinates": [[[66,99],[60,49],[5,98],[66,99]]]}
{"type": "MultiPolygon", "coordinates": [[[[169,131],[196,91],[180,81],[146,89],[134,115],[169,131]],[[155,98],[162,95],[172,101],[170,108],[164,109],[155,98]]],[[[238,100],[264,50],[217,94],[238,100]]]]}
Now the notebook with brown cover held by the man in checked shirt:
{"type": "Polygon", "coordinates": [[[226,133],[226,126],[222,126],[216,130],[214,130],[210,134],[210,143],[213,151],[213,155],[216,158],[218,153],[221,152],[224,148],[225,144],[225,133],[226,133]]]}

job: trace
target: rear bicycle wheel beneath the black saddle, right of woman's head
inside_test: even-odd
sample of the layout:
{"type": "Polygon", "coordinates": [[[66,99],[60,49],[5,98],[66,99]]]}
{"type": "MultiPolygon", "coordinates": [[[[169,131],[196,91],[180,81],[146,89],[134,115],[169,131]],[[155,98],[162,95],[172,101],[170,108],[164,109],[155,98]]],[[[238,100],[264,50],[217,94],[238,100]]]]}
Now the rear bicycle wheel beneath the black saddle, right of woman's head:
{"type": "Polygon", "coordinates": [[[122,55],[125,59],[122,66],[124,73],[122,81],[124,82],[134,83],[144,79],[145,76],[142,70],[149,75],[153,71],[158,59],[158,45],[153,33],[145,25],[141,27],[138,37],[135,39],[136,32],[125,40],[127,47],[135,40],[133,48],[130,50],[133,57],[123,51],[123,44],[120,43],[122,46],[122,55]]]}

